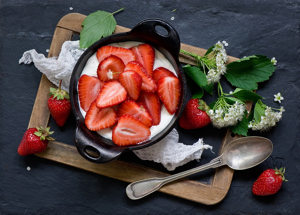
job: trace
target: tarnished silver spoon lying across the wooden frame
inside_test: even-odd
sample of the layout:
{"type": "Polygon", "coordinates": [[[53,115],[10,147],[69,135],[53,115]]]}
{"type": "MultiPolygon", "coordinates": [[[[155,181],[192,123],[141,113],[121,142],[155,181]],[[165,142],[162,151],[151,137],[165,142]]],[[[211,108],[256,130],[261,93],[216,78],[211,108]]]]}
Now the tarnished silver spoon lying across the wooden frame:
{"type": "Polygon", "coordinates": [[[186,177],[205,169],[228,165],[232,169],[242,170],[254,167],[271,155],[273,150],[272,142],[262,137],[243,137],[228,143],[221,156],[213,159],[208,164],[187,170],[182,173],[171,175],[165,178],[149,178],[133,182],[126,188],[127,196],[130,199],[140,199],[158,190],[162,185],[186,177]]]}

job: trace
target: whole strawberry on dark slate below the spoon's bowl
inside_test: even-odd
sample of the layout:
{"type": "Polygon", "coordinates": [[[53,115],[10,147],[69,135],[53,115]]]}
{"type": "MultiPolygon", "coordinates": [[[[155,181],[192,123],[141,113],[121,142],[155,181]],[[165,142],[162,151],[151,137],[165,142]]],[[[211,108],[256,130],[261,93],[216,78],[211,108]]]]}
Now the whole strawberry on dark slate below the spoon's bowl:
{"type": "Polygon", "coordinates": [[[279,191],[282,182],[287,181],[284,177],[285,168],[267,169],[254,182],[252,193],[254,195],[272,195],[279,191]],[[282,171],[283,170],[283,171],[282,171]]]}

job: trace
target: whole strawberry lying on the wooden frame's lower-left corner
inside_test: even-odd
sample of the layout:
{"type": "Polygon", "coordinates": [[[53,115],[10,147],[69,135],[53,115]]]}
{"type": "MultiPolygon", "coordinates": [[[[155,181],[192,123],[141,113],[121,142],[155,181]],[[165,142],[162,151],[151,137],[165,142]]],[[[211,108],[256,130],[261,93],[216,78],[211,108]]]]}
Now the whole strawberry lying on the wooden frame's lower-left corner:
{"type": "Polygon", "coordinates": [[[40,153],[48,146],[48,140],[54,140],[49,137],[53,131],[49,131],[50,127],[29,128],[25,131],[21,143],[18,147],[18,153],[22,156],[40,153]]]}

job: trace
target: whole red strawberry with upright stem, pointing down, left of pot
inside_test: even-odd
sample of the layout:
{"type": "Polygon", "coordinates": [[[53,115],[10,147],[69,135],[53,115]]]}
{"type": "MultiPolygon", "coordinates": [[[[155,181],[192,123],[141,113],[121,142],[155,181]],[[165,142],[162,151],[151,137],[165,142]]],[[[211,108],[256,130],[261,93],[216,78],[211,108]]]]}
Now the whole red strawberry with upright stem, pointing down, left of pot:
{"type": "Polygon", "coordinates": [[[62,81],[60,81],[57,89],[50,87],[50,98],[48,99],[48,108],[53,116],[56,124],[60,127],[65,125],[71,114],[71,102],[69,93],[61,89],[62,81]]]}

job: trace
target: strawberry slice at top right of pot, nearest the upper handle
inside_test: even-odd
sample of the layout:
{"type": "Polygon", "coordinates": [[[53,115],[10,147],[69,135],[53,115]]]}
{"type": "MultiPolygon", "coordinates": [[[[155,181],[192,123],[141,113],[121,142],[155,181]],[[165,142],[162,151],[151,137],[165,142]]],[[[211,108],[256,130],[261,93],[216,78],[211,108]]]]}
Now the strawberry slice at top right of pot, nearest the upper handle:
{"type": "Polygon", "coordinates": [[[155,50],[153,46],[143,43],[130,48],[138,61],[145,68],[147,74],[152,77],[153,65],[155,60],[155,50]]]}

